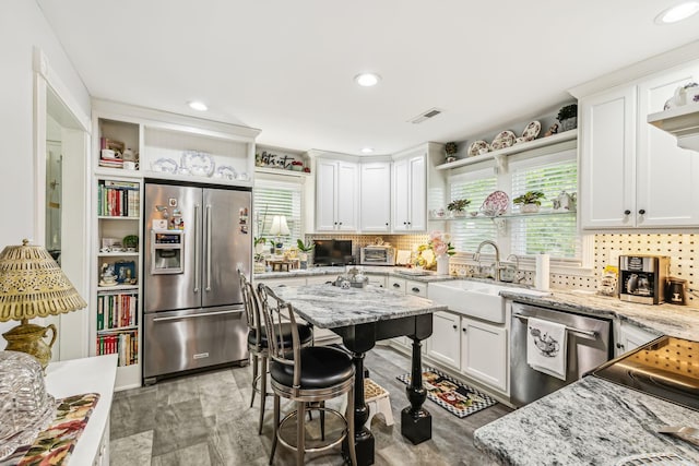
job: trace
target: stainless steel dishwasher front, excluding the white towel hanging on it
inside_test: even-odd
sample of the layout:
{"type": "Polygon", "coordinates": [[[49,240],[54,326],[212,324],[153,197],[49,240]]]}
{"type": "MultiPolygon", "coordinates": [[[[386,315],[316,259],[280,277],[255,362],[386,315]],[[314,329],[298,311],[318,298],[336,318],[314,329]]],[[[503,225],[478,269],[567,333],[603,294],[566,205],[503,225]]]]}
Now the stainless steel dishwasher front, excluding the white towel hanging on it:
{"type": "Polygon", "coordinates": [[[612,323],[606,319],[561,312],[537,306],[512,303],[510,336],[510,402],[532,403],[577,380],[612,358],[612,323]],[[566,325],[566,380],[532,369],[526,363],[529,318],[566,325]]]}

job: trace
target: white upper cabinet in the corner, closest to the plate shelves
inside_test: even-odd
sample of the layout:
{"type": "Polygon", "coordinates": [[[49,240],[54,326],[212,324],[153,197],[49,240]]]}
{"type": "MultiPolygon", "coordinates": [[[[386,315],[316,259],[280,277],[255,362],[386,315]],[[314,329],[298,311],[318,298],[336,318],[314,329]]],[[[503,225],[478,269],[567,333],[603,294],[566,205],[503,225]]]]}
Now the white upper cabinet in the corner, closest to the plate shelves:
{"type": "Polygon", "coordinates": [[[427,229],[427,154],[393,163],[393,231],[427,229]]]}

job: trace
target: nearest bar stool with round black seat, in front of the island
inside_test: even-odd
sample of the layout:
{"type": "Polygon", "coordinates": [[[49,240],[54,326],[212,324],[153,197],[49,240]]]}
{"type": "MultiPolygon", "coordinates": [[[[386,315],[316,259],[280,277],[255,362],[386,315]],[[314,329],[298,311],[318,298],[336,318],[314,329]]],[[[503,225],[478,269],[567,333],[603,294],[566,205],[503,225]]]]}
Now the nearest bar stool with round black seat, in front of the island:
{"type": "Polygon", "coordinates": [[[259,286],[258,292],[264,326],[270,334],[269,357],[272,359],[270,379],[274,392],[274,439],[270,465],[274,461],[277,443],[296,451],[296,464],[300,466],[304,464],[306,452],[325,451],[347,439],[350,459],[355,466],[357,458],[354,450],[354,363],[352,358],[346,353],[328,346],[301,347],[293,306],[281,301],[272,289],[263,284],[259,286]],[[285,342],[283,333],[286,312],[292,322],[292,345],[285,342]],[[324,402],[344,394],[347,396],[344,415],[325,406],[324,402]],[[280,420],[281,397],[296,402],[296,409],[280,420]],[[318,447],[306,447],[306,413],[309,409],[332,414],[342,420],[344,429],[337,439],[318,447]],[[296,446],[286,442],[281,435],[283,426],[294,417],[296,418],[296,446]]]}

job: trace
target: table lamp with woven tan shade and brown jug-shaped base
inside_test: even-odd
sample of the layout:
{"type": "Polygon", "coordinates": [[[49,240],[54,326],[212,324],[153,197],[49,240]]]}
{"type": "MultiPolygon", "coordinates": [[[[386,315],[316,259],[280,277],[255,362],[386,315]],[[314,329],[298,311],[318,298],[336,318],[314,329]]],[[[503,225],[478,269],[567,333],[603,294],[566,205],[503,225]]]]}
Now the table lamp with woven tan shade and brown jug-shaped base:
{"type": "Polygon", "coordinates": [[[38,359],[46,369],[57,331],[54,324],[40,326],[29,319],[58,315],[87,307],[61,267],[40,246],[8,246],[0,253],[0,322],[21,321],[3,333],[7,350],[22,351],[38,359]],[[47,345],[44,337],[52,331],[47,345]]]}

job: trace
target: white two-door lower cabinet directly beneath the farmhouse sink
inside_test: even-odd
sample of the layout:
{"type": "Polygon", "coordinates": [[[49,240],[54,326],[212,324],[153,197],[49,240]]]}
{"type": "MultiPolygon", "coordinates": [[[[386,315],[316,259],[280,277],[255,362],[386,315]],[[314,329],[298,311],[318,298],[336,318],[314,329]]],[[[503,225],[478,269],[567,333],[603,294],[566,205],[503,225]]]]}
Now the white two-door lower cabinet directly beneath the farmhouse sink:
{"type": "Polygon", "coordinates": [[[507,393],[507,328],[452,312],[433,314],[427,356],[499,392],[507,393]]]}

